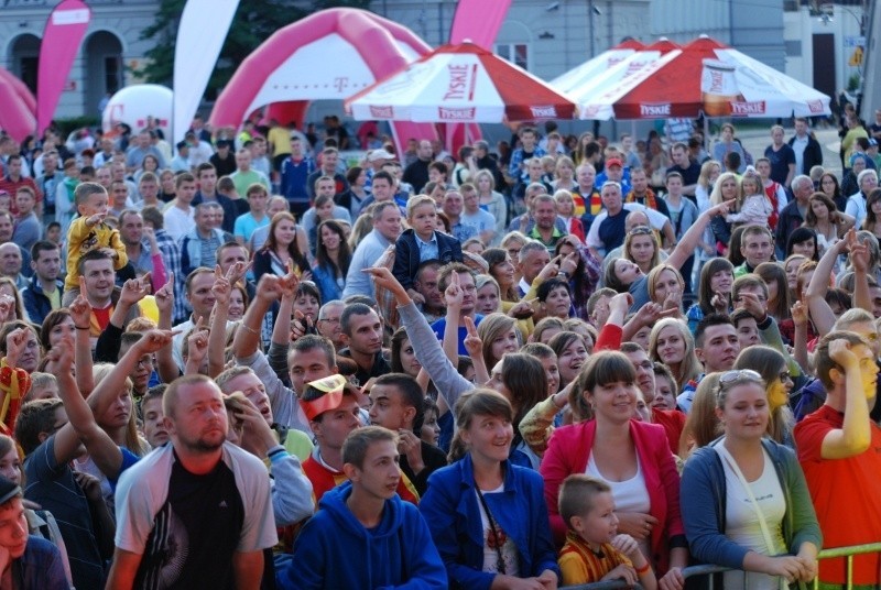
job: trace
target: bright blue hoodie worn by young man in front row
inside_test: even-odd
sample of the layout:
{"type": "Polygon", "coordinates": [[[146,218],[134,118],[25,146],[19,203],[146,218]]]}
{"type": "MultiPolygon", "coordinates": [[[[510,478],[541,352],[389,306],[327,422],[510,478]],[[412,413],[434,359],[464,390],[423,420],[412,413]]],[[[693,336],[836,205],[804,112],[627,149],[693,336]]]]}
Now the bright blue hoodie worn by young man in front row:
{"type": "Polygon", "coordinates": [[[280,588],[400,588],[447,590],[447,575],[416,506],[395,494],[382,521],[368,531],[346,506],[351,482],[318,502],[294,544],[294,557],[279,576],[280,588]]]}

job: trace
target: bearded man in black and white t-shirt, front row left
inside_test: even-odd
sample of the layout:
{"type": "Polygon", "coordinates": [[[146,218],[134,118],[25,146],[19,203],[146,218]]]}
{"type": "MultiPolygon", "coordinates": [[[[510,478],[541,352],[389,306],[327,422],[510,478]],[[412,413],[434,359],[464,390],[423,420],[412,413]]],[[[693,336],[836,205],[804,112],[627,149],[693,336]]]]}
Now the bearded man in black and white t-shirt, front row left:
{"type": "Polygon", "coordinates": [[[174,381],[162,401],[171,445],[126,471],[107,588],[161,577],[182,588],[258,588],[263,549],[278,542],[267,468],[226,442],[220,389],[174,381]]]}

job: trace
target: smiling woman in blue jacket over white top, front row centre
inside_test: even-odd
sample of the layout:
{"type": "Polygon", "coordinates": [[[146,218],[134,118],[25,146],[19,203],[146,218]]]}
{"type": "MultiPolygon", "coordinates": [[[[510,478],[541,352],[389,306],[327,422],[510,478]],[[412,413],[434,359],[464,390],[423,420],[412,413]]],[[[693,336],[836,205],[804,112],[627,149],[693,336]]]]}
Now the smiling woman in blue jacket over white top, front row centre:
{"type": "Polygon", "coordinates": [[[457,439],[449,467],[428,478],[420,511],[447,568],[450,588],[488,590],[493,582],[531,579],[556,584],[542,478],[511,465],[511,404],[476,390],[456,404],[457,439]]]}

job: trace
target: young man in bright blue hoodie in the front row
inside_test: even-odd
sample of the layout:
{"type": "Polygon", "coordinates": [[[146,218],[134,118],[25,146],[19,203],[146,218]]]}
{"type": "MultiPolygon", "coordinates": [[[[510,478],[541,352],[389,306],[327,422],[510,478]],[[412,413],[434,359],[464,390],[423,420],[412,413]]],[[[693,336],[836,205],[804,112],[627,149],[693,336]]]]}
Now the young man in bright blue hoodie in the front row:
{"type": "Polygon", "coordinates": [[[282,588],[447,589],[432,535],[414,505],[395,493],[398,435],[354,430],[342,445],[349,481],[327,492],[294,545],[282,588]]]}

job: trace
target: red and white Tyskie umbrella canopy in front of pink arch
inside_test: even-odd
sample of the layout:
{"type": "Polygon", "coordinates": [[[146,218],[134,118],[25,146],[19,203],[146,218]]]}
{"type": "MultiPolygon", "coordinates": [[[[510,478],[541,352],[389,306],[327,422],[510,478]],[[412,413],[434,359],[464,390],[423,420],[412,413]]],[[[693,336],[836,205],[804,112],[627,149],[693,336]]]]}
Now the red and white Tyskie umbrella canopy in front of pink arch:
{"type": "Polygon", "coordinates": [[[444,45],[346,100],[361,121],[500,123],[572,119],[575,102],[474,43],[444,45]]]}

